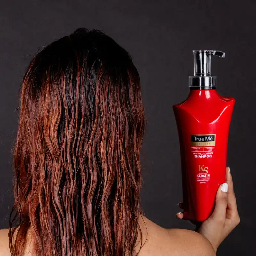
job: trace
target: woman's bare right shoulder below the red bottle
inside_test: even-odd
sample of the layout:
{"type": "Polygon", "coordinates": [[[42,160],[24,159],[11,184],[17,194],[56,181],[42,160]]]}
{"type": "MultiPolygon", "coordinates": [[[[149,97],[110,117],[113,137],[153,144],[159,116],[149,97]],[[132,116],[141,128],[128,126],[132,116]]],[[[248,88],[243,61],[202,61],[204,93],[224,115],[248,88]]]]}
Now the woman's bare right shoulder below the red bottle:
{"type": "MultiPolygon", "coordinates": [[[[201,234],[186,229],[165,229],[146,217],[139,220],[144,246],[139,256],[215,256],[212,244],[201,234]]],[[[140,235],[139,235],[140,240],[140,235]]],[[[140,243],[135,248],[138,251],[140,243]]]]}

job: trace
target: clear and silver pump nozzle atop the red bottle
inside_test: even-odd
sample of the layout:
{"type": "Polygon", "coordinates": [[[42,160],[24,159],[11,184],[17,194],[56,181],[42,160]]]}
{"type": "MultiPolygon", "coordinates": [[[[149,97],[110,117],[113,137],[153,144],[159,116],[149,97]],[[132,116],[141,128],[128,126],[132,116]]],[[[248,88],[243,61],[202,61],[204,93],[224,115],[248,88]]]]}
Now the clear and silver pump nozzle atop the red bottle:
{"type": "Polygon", "coordinates": [[[224,58],[225,52],[216,50],[193,50],[194,76],[189,76],[191,89],[214,89],[216,76],[211,76],[211,55],[224,58]]]}

